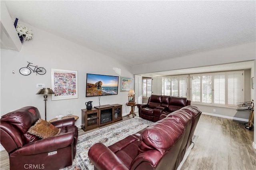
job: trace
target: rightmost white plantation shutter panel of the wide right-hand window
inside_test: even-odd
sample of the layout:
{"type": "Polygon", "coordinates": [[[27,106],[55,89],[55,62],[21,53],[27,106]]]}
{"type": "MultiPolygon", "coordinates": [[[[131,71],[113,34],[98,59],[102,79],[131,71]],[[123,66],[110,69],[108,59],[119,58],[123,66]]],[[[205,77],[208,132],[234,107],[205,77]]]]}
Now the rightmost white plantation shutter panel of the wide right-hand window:
{"type": "Polygon", "coordinates": [[[228,73],[228,105],[242,102],[242,71],[228,73]]]}

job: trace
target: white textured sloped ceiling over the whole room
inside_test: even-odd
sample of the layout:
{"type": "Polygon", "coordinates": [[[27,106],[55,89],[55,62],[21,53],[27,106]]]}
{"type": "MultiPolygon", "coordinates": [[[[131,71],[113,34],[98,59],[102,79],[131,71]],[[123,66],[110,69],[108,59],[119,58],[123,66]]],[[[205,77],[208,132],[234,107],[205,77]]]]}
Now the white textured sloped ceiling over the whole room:
{"type": "Polygon", "coordinates": [[[255,0],[6,1],[6,6],[12,18],[131,66],[255,42],[255,0]]]}

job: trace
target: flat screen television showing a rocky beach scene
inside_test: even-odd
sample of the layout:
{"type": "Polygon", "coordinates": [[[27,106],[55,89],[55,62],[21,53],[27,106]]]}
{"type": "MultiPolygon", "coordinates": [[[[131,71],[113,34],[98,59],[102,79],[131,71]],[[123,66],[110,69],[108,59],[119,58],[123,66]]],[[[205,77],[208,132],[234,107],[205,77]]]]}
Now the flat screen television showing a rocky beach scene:
{"type": "Polygon", "coordinates": [[[86,75],[86,97],[117,95],[118,76],[112,75],[86,75]]]}

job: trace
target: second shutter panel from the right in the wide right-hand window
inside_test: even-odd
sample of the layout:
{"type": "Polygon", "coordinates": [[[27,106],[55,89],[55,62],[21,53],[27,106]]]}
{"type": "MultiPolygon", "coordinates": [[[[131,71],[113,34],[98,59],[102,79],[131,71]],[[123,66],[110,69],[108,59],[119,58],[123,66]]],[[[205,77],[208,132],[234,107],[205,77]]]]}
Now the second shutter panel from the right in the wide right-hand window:
{"type": "Polygon", "coordinates": [[[225,74],[214,75],[214,104],[225,105],[225,74]]]}

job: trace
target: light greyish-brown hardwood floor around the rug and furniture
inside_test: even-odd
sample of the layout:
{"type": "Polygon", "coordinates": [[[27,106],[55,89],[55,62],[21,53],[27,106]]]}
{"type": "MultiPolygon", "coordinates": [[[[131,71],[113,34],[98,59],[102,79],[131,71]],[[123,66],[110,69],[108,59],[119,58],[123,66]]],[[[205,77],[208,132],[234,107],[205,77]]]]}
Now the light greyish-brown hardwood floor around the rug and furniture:
{"type": "MultiPolygon", "coordinates": [[[[88,132],[78,130],[79,136],[88,132]]],[[[182,170],[256,170],[253,131],[244,129],[243,122],[201,115],[194,134],[198,138],[182,170]]],[[[9,170],[6,151],[0,153],[0,161],[0,169],[9,170]]]]}

